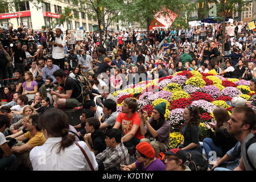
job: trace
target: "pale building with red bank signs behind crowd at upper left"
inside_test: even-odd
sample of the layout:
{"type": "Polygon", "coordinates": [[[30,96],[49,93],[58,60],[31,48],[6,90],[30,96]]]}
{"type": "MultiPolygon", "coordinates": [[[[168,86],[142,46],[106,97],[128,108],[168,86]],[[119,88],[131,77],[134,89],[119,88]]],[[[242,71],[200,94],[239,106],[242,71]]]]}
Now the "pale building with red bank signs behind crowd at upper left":
{"type": "MultiPolygon", "coordinates": [[[[38,8],[31,1],[23,1],[15,6],[9,5],[13,8],[1,7],[0,26],[7,28],[8,24],[13,24],[14,28],[26,26],[34,30],[40,30],[42,26],[52,28],[54,20],[60,18],[64,8],[70,3],[72,3],[70,0],[46,0],[39,3],[38,8]]],[[[93,27],[97,26],[97,21],[90,18],[86,13],[72,12],[72,14],[76,15],[77,18],[64,22],[65,30],[76,30],[82,27],[85,31],[93,31],[93,27]]]]}

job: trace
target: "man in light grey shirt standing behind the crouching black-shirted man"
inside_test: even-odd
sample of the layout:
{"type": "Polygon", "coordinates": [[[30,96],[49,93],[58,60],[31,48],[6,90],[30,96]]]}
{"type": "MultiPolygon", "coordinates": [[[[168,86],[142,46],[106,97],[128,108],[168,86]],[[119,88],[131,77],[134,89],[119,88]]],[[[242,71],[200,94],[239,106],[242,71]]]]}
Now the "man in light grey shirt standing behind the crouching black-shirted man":
{"type": "Polygon", "coordinates": [[[89,51],[84,51],[84,49],[80,50],[81,57],[79,59],[79,67],[82,68],[82,72],[84,73],[84,76],[88,78],[90,74],[94,74],[93,71],[93,64],[92,64],[92,57],[88,54],[89,51]]]}

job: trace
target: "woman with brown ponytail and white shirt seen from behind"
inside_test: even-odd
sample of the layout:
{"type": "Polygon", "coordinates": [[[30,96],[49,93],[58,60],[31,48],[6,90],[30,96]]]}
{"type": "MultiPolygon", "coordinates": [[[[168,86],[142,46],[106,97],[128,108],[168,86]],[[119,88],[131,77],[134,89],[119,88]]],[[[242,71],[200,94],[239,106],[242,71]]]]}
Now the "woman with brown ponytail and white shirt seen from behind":
{"type": "Polygon", "coordinates": [[[96,158],[85,142],[75,142],[69,134],[69,119],[59,109],[49,109],[39,117],[47,139],[30,152],[34,171],[92,171],[98,169],[96,158]],[[86,159],[85,156],[88,158],[86,159]],[[88,161],[89,160],[89,161],[88,161]]]}

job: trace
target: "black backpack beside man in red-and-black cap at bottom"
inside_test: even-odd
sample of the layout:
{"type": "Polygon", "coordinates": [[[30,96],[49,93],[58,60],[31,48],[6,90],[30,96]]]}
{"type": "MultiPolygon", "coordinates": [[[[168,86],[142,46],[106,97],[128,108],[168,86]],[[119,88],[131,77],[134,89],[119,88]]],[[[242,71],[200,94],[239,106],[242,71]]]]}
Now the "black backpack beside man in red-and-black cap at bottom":
{"type": "Polygon", "coordinates": [[[198,151],[187,152],[187,161],[184,163],[191,171],[207,171],[208,162],[198,151]]]}

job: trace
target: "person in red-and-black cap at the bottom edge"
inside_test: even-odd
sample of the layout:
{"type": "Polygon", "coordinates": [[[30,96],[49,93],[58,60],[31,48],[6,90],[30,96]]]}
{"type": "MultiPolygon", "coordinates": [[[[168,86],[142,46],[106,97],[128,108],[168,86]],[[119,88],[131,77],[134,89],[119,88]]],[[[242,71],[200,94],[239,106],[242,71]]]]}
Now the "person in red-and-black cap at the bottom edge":
{"type": "Polygon", "coordinates": [[[166,171],[191,171],[184,163],[187,161],[187,155],[180,148],[172,148],[164,153],[166,164],[166,171]]]}

